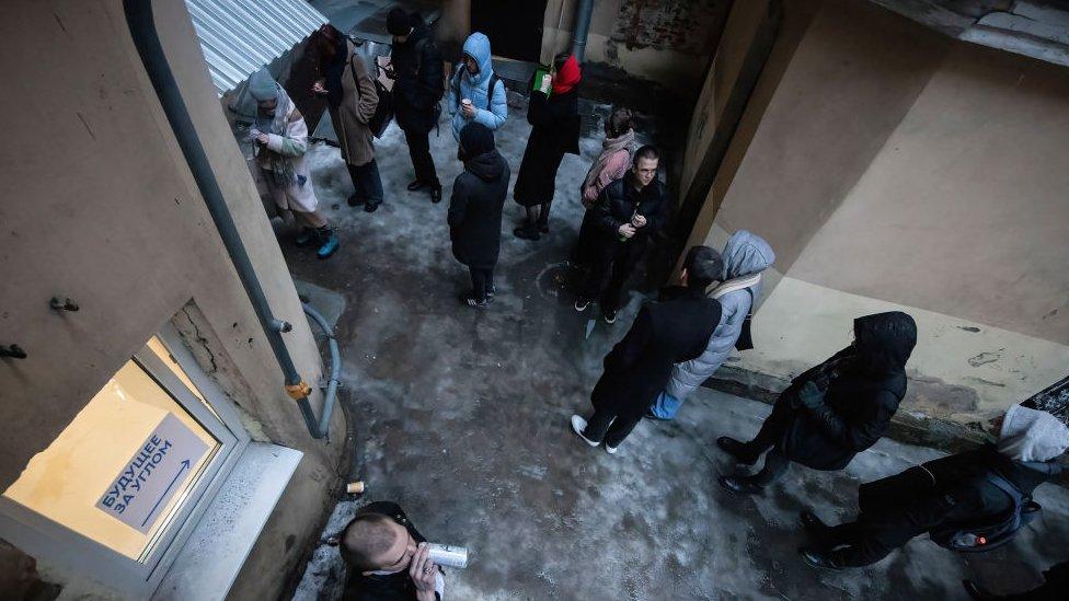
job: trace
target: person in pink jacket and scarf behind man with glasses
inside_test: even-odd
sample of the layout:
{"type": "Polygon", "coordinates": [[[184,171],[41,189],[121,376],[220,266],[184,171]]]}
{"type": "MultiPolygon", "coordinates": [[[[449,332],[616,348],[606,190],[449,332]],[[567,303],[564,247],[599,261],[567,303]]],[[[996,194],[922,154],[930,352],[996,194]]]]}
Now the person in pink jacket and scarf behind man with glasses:
{"type": "Polygon", "coordinates": [[[618,108],[605,123],[605,141],[601,142],[601,154],[590,165],[590,171],[583,182],[582,199],[586,207],[583,224],[579,227],[579,238],[572,249],[571,264],[576,267],[590,265],[590,246],[596,242],[595,229],[591,224],[594,203],[598,195],[610,183],[620,180],[631,166],[634,154],[633,115],[627,108],[618,108]]]}

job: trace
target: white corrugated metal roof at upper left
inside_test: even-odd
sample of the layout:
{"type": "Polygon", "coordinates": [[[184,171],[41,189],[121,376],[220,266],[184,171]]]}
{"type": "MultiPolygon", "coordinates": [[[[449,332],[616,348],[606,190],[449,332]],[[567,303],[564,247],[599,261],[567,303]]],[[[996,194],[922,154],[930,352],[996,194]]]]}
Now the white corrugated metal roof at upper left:
{"type": "Polygon", "coordinates": [[[326,23],[303,0],[185,0],[185,5],[219,94],[326,23]]]}

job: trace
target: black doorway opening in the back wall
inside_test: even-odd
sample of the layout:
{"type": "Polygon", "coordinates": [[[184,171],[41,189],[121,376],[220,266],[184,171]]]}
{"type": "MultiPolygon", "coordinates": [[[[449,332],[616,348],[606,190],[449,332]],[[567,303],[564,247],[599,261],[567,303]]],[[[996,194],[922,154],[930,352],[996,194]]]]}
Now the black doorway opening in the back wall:
{"type": "Polygon", "coordinates": [[[497,56],[538,62],[545,0],[472,0],[471,28],[490,37],[497,56]]]}

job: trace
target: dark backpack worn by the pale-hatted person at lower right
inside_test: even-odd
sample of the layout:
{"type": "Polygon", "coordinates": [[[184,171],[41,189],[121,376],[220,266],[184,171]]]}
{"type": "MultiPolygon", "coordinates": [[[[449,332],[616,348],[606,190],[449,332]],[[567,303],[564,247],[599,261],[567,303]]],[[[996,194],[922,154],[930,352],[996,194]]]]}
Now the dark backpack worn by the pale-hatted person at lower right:
{"type": "Polygon", "coordinates": [[[1019,530],[1039,516],[1043,509],[1039,504],[1032,500],[1031,495],[1022,494],[1010,481],[995,472],[988,472],[984,481],[1005,493],[1013,500],[1013,507],[1000,516],[941,524],[929,532],[933,543],[963,553],[990,551],[1013,540],[1019,530]]]}

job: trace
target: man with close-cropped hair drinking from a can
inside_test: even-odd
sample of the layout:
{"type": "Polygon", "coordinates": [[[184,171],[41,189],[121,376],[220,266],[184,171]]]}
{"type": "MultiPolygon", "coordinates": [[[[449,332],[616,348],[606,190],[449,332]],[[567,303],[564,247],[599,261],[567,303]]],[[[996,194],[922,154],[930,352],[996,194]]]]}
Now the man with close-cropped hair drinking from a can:
{"type": "Polygon", "coordinates": [[[395,502],[377,501],[357,511],[338,536],[348,567],[345,601],[440,601],[441,569],[427,540],[395,502]]]}

